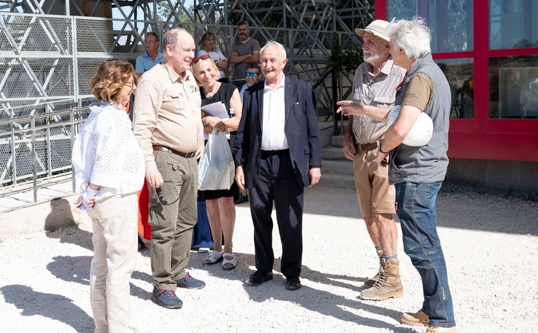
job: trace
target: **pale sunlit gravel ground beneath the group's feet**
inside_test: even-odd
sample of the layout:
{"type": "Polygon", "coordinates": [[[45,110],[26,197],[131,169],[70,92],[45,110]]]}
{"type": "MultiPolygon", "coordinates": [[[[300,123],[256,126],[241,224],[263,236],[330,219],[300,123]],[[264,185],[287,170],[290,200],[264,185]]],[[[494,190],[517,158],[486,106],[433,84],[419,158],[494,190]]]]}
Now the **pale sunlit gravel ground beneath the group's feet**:
{"type": "MultiPolygon", "coordinates": [[[[437,211],[460,332],[532,331],[538,317],[538,202],[446,185],[437,211]]],[[[75,218],[78,228],[0,240],[4,332],[93,332],[91,224],[75,218]]],[[[278,257],[276,227],[273,238],[278,257]]],[[[180,310],[150,301],[150,258],[139,253],[126,300],[133,305],[133,332],[424,331],[399,322],[401,312],[416,311],[422,303],[419,275],[403,252],[401,237],[404,296],[358,300],[377,260],[353,190],[307,189],[300,290],[285,290],[278,260],[273,281],[259,287],[243,283],[255,270],[248,204],[237,206],[234,251],[238,265],[233,271],[202,266],[204,254],[191,253],[187,269],[207,287],[178,290],[184,302],[180,310]]]]}

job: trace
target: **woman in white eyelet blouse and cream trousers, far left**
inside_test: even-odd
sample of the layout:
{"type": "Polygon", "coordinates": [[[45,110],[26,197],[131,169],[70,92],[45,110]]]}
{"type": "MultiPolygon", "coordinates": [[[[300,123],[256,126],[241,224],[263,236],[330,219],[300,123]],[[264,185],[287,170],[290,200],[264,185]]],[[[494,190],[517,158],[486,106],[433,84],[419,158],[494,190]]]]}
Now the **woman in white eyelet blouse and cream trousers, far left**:
{"type": "Polygon", "coordinates": [[[84,193],[78,209],[92,219],[94,258],[89,300],[95,332],[126,332],[131,312],[129,279],[136,267],[137,192],[145,165],[133,126],[123,107],[136,89],[133,65],[104,62],[90,80],[99,102],[75,139],[72,164],[84,193]]]}

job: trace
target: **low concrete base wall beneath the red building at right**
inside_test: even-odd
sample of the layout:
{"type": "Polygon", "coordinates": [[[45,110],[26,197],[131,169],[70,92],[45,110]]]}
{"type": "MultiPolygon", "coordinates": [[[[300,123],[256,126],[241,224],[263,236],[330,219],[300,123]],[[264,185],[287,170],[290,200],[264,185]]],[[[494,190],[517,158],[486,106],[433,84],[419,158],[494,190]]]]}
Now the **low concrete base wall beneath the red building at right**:
{"type": "Polygon", "coordinates": [[[451,159],[446,181],[476,188],[538,193],[538,162],[451,159]]]}

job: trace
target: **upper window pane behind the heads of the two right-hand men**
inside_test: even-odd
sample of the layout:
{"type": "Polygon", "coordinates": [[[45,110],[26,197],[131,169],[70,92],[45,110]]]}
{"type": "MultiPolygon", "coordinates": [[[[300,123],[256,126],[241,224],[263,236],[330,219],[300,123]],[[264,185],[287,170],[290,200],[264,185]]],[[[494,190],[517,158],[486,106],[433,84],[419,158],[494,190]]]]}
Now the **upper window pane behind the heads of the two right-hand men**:
{"type": "Polygon", "coordinates": [[[432,52],[473,50],[473,0],[388,0],[388,20],[421,16],[432,30],[432,52]]]}

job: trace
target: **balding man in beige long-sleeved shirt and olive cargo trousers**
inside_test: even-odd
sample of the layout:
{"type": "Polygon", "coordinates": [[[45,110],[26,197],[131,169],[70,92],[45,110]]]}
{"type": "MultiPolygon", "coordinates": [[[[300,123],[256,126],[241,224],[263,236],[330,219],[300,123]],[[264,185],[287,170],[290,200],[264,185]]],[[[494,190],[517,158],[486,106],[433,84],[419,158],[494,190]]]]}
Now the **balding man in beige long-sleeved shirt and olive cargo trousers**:
{"type": "Polygon", "coordinates": [[[138,82],[134,125],[150,187],[152,298],[177,309],[182,301],[175,295],[176,287],[205,286],[185,271],[197,222],[197,158],[204,137],[202,101],[189,70],[194,39],[184,29],[172,29],[163,45],[164,62],[138,82]]]}

